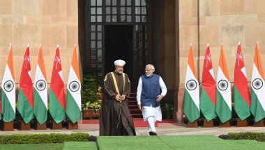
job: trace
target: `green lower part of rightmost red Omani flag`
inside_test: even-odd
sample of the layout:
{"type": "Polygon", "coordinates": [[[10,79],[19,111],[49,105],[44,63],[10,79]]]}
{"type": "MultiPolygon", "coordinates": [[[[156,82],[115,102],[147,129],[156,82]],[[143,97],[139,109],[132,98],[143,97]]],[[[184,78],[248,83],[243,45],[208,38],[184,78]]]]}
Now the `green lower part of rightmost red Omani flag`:
{"type": "Polygon", "coordinates": [[[234,86],[234,110],[236,110],[237,115],[241,120],[250,116],[250,107],[245,103],[245,99],[234,86]]]}

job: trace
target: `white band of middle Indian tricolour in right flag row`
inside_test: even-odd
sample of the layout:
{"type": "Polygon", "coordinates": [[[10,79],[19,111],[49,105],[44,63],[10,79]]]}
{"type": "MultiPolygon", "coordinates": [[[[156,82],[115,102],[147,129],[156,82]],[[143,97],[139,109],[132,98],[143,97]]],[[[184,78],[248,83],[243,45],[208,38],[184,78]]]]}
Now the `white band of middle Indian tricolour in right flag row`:
{"type": "Polygon", "coordinates": [[[222,72],[222,69],[220,68],[220,66],[218,67],[216,87],[217,87],[218,91],[220,92],[220,94],[222,95],[222,98],[225,99],[225,103],[227,103],[227,106],[229,106],[230,110],[232,110],[231,83],[228,81],[227,77],[222,72]],[[227,81],[228,88],[226,90],[219,90],[218,83],[220,80],[227,81]]]}

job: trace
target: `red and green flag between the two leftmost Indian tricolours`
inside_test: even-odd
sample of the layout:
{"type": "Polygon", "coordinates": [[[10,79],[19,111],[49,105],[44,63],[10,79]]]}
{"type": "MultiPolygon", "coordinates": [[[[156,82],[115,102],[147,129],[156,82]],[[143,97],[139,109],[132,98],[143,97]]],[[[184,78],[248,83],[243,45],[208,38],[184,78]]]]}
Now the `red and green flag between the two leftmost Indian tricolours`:
{"type": "Polygon", "coordinates": [[[24,61],[20,74],[20,92],[18,94],[18,111],[24,122],[28,124],[33,119],[33,86],[31,80],[31,63],[29,57],[29,45],[24,55],[24,61]]]}

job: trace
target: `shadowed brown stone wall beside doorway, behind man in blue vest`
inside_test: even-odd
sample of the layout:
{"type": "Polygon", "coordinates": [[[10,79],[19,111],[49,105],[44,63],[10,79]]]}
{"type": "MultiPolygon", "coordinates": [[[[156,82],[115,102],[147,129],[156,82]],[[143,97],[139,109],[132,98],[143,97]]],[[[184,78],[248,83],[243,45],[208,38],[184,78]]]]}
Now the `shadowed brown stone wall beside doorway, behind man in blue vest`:
{"type": "Polygon", "coordinates": [[[153,65],[156,74],[162,76],[167,85],[167,103],[174,103],[175,90],[175,1],[157,0],[153,1],[153,65]],[[173,19],[172,19],[173,18],[173,19]]]}

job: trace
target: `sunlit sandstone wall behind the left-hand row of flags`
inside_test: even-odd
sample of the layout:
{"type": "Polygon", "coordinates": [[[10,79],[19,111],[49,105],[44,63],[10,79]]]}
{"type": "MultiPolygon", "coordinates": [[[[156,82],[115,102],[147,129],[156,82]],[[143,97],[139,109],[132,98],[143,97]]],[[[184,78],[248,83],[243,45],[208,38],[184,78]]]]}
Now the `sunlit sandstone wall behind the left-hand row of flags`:
{"type": "Polygon", "coordinates": [[[78,47],[77,0],[0,1],[0,81],[13,44],[15,83],[20,83],[24,52],[29,43],[31,74],[35,78],[39,44],[42,44],[47,82],[50,83],[56,45],[59,44],[64,83],[74,45],[78,47]]]}

